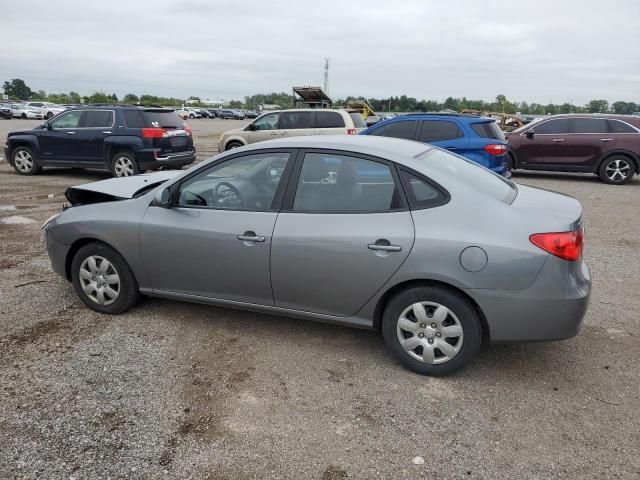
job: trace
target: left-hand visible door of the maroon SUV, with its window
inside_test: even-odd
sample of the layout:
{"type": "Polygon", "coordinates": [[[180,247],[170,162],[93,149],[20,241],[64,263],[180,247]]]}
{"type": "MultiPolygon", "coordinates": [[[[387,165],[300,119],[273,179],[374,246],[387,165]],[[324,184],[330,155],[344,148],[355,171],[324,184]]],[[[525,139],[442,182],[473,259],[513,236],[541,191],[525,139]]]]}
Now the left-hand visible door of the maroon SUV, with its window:
{"type": "Polygon", "coordinates": [[[570,118],[554,118],[521,132],[520,146],[515,149],[521,167],[564,165],[570,126],[570,118]]]}

